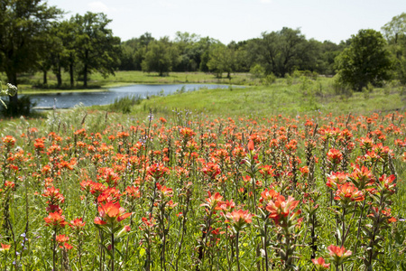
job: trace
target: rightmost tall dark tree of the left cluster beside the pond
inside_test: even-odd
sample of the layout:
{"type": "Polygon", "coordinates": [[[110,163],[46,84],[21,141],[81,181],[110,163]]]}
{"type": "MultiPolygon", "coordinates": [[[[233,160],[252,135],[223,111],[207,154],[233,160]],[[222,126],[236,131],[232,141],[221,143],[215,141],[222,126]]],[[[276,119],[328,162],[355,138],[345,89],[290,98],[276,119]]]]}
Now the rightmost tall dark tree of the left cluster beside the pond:
{"type": "Polygon", "coordinates": [[[79,73],[83,76],[83,86],[88,87],[88,74],[97,70],[103,76],[115,74],[121,52],[120,38],[115,37],[107,24],[111,20],[106,14],[88,12],[70,19],[75,25],[75,52],[80,61],[79,73]]]}

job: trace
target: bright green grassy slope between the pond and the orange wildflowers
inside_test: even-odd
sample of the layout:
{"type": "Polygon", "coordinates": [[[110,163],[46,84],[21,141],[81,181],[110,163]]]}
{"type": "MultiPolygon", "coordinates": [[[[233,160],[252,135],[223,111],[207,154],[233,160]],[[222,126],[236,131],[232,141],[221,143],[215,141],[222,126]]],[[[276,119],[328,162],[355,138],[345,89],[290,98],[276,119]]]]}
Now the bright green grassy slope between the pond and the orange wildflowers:
{"type": "Polygon", "coordinates": [[[374,89],[369,97],[365,97],[364,93],[354,93],[347,98],[332,93],[331,82],[331,79],[318,79],[305,91],[300,82],[289,86],[281,79],[271,86],[201,89],[144,100],[134,107],[134,112],[152,108],[154,112],[167,114],[174,108],[180,108],[214,115],[267,117],[277,114],[316,114],[317,110],[333,114],[366,114],[405,109],[406,97],[401,95],[399,89],[392,89],[390,94],[385,94],[383,89],[374,89]]]}

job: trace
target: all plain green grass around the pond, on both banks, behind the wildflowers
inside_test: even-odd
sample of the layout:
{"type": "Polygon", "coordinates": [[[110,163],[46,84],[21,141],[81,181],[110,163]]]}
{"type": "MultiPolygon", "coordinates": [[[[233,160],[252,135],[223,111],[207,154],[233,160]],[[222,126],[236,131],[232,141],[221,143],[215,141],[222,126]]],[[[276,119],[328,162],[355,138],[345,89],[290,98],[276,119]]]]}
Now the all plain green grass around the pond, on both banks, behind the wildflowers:
{"type": "MultiPolygon", "coordinates": [[[[1,75],[0,79],[5,79],[1,75]]],[[[213,74],[203,72],[171,72],[168,76],[142,71],[117,71],[115,76],[103,78],[101,74],[90,75],[89,88],[83,89],[81,82],[75,89],[55,89],[56,78],[49,73],[49,88],[39,89],[42,74],[21,75],[19,90],[23,94],[50,93],[61,91],[99,91],[131,84],[175,84],[216,83],[230,84],[228,89],[200,89],[198,91],[174,94],[167,97],[152,97],[137,103],[125,112],[143,113],[152,109],[161,114],[170,114],[174,108],[197,110],[226,116],[268,117],[278,114],[298,116],[318,115],[318,111],[335,114],[368,114],[371,112],[392,112],[404,110],[406,96],[404,87],[394,86],[374,89],[372,93],[353,93],[351,96],[337,95],[333,79],[309,79],[305,77],[277,79],[272,85],[261,85],[260,79],[249,74],[232,74],[232,79],[217,79],[213,74]],[[244,85],[236,88],[233,85],[244,85]],[[388,91],[389,88],[389,91],[388,91]],[[403,89],[402,89],[403,88],[403,89]]],[[[63,82],[69,81],[64,73],[63,82]]],[[[4,80],[5,81],[5,80],[4,80]]],[[[116,107],[94,107],[107,111],[120,111],[116,107]]]]}

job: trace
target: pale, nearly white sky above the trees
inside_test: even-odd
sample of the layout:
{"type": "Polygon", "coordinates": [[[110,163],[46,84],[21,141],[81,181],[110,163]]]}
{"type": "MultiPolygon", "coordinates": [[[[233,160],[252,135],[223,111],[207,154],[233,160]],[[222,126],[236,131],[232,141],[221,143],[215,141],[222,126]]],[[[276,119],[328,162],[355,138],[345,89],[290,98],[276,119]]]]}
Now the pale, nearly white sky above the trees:
{"type": "Polygon", "coordinates": [[[406,12],[406,0],[48,0],[67,14],[104,13],[127,41],[143,33],[196,33],[225,44],[261,37],[282,27],[306,39],[339,43],[361,29],[381,30],[406,12]]]}

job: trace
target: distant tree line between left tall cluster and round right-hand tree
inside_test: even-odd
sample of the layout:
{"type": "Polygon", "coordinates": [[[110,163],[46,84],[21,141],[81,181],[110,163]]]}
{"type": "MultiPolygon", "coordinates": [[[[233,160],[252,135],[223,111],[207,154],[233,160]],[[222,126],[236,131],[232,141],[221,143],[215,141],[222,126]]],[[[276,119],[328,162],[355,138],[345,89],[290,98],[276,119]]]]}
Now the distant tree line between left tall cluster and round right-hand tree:
{"type": "Polygon", "coordinates": [[[260,38],[223,44],[195,33],[176,33],[155,39],[151,33],[122,42],[119,70],[214,72],[218,77],[232,72],[248,72],[256,65],[265,75],[284,77],[293,70],[334,74],[334,60],[344,50],[344,42],[307,40],[299,29],[262,33],[260,38]]]}

